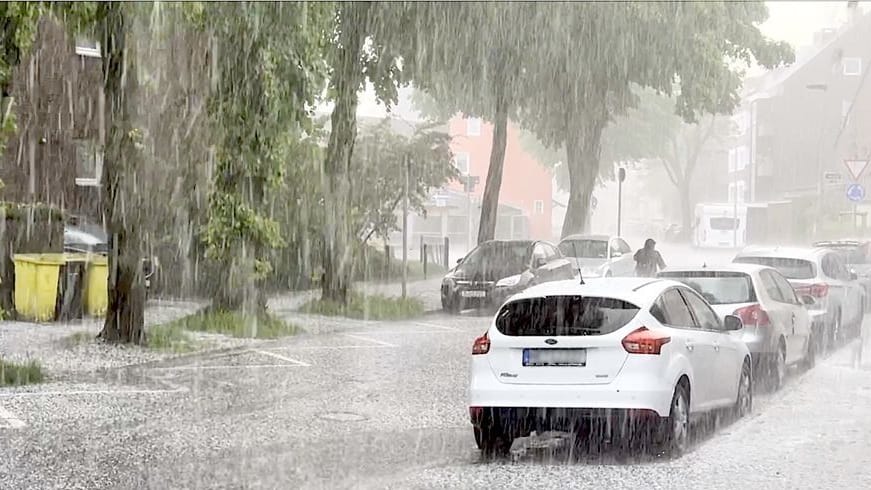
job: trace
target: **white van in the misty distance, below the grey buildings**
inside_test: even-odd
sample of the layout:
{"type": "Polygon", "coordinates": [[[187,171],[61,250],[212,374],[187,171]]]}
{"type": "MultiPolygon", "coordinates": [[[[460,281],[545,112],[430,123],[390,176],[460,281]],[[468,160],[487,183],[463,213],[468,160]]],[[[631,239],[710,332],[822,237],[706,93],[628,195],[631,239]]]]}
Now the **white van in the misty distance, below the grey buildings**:
{"type": "Polygon", "coordinates": [[[747,241],[747,207],[701,203],[696,206],[693,245],[703,248],[740,248],[747,241]],[[737,213],[736,213],[737,211],[737,213]]]}

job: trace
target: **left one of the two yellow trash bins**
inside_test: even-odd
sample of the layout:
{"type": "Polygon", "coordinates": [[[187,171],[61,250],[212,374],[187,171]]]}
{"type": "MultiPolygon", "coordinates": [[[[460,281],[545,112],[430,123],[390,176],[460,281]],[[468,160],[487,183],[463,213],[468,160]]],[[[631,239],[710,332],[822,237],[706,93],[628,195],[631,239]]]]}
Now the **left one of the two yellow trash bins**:
{"type": "Polygon", "coordinates": [[[15,311],[26,320],[45,322],[54,319],[57,282],[64,255],[14,254],[15,311]]]}

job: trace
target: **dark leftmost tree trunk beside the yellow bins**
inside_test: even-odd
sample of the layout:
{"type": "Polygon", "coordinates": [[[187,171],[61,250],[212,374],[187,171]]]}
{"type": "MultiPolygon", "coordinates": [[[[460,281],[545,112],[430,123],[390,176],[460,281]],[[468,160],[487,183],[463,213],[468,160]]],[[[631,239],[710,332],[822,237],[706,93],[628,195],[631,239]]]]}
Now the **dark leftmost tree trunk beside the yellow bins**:
{"type": "Polygon", "coordinates": [[[126,36],[131,29],[125,4],[101,4],[105,9],[103,74],[107,101],[106,147],[103,164],[103,213],[109,235],[109,304],[100,337],[113,342],[144,340],[144,256],[140,236],[141,206],[136,174],[142,155],[133,126],[136,107],[136,65],[126,36]]]}

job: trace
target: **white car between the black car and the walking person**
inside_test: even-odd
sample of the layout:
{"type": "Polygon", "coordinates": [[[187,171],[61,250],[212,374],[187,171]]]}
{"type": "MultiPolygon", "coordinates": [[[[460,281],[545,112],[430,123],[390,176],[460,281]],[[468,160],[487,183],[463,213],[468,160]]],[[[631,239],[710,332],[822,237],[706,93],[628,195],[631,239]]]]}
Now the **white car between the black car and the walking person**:
{"type": "Polygon", "coordinates": [[[559,249],[584,278],[635,275],[632,248],[620,237],[571,235],[560,241],[559,249]]]}

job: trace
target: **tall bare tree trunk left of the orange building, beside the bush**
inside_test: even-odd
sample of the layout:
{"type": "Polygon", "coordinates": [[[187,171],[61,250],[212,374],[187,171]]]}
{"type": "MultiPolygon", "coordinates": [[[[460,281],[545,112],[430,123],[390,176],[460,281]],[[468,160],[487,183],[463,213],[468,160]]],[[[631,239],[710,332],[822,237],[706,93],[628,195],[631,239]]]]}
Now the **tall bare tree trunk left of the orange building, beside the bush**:
{"type": "Polygon", "coordinates": [[[350,220],[351,154],[357,137],[357,90],[363,82],[360,54],[366,37],[368,3],[345,3],[340,13],[342,49],[336,54],[332,83],[335,107],[321,177],[324,188],[324,278],[322,299],[347,303],[353,258],[350,220]]]}

